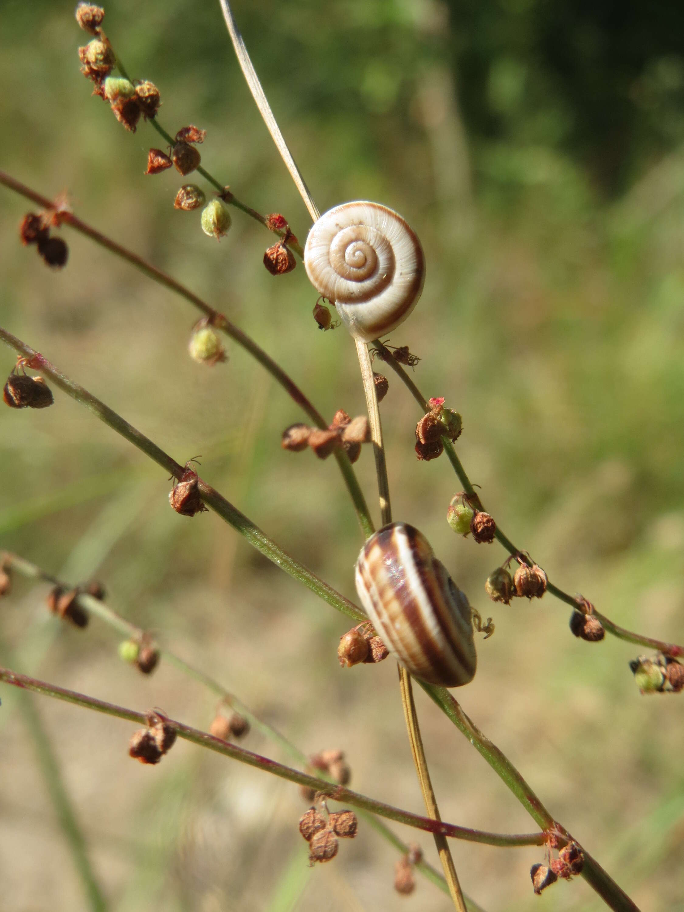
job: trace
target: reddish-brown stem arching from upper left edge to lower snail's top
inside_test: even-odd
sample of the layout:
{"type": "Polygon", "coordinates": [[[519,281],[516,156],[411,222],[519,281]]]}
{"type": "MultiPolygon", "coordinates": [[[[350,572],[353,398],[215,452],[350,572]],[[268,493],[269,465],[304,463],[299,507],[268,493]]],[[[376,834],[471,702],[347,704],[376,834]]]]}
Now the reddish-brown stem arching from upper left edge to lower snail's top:
{"type": "MultiPolygon", "coordinates": [[[[25,184],[20,181],[16,181],[11,175],[6,174],[5,171],[0,171],[0,184],[4,185],[8,190],[12,190],[18,193],[21,196],[24,196],[27,200],[35,202],[36,205],[41,206],[43,209],[49,210],[54,208],[54,202],[49,200],[46,196],[43,196],[41,193],[32,190],[30,187],[27,187],[25,184]]],[[[171,275],[167,275],[162,272],[161,269],[158,269],[156,266],[148,263],[147,260],[143,259],[138,254],[129,250],[126,247],[123,247],[121,244],[117,244],[115,241],[112,241],[106,234],[98,232],[97,229],[93,228],[91,225],[83,222],[72,212],[60,212],[59,216],[62,223],[69,225],[69,227],[75,229],[81,234],[85,234],[86,237],[89,237],[91,241],[94,241],[96,244],[99,244],[101,247],[104,247],[106,250],[109,250],[110,253],[119,256],[122,260],[125,260],[127,263],[135,266],[137,269],[140,269],[140,272],[147,275],[154,282],[157,282],[159,285],[162,285],[165,288],[170,289],[174,294],[181,295],[186,301],[188,301],[192,306],[196,307],[199,311],[206,316],[211,322],[212,326],[217,329],[220,329],[225,333],[226,336],[233,339],[239,346],[243,347],[246,352],[248,352],[252,357],[261,364],[265,370],[275,379],[275,381],[280,384],[280,386],[285,389],[285,392],[295,403],[304,410],[306,415],[310,420],[314,422],[317,428],[321,430],[326,430],[327,422],[325,418],[320,414],[316,407],[306,398],[306,395],[302,392],[299,387],[296,386],[294,380],[289,377],[285,370],[281,368],[273,358],[266,354],[263,348],[259,347],[254,339],[247,336],[238,326],[235,326],[227,316],[220,313],[217,310],[214,310],[213,307],[209,306],[201,297],[195,295],[189,288],[186,288],[185,285],[181,285],[180,282],[177,282],[175,279],[171,278],[171,275]]],[[[358,483],[358,478],[356,472],[352,467],[347,453],[341,448],[337,447],[334,451],[335,459],[337,465],[339,466],[340,472],[342,472],[342,477],[347,485],[347,491],[349,492],[352,503],[354,503],[354,509],[356,510],[358,516],[358,522],[361,526],[361,529],[368,537],[368,535],[373,534],[374,526],[373,521],[370,518],[370,513],[368,512],[368,504],[366,499],[361,491],[361,487],[358,483]]]]}

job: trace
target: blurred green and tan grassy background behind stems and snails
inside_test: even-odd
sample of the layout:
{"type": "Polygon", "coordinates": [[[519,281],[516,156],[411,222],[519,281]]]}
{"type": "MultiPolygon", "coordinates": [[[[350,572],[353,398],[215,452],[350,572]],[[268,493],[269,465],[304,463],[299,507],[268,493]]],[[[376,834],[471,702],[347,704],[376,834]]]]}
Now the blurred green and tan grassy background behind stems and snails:
{"type": "MultiPolygon", "coordinates": [[[[309,225],[233,58],[218,4],[112,0],[105,28],[135,78],[161,89],[161,123],[207,130],[202,163],[261,212],[309,225]]],[[[233,214],[220,244],[176,212],[175,171],[145,177],[159,137],[90,98],[73,3],[0,5],[1,167],[66,191],[83,219],[225,311],[332,416],[364,409],[354,347],[320,333],[300,266],[273,278],[269,236],[233,214]]],[[[446,396],[458,450],[503,529],[551,578],[617,623],[684,639],[684,13],[657,2],[239,0],[254,65],[321,210],[384,202],[420,234],[428,279],[392,334],[446,396]]],[[[0,190],[0,323],[202,476],[277,542],[353,597],[361,541],[334,461],[282,451],[294,403],[237,347],[203,368],[195,313],[65,230],[53,273],[19,245],[30,207],[0,190]]],[[[14,355],[0,353],[5,374],[14,355]]],[[[382,405],[396,518],[428,535],[496,633],[457,696],[544,803],[637,902],[684,907],[681,701],[639,696],[639,648],[575,640],[566,606],[494,606],[498,545],[457,539],[459,490],[442,457],[418,463],[419,413],[390,377],[382,405]]],[[[57,392],[54,408],[0,412],[0,546],[79,581],[233,689],[304,751],[338,747],[352,785],[421,812],[391,661],[342,671],[347,625],[212,513],[168,505],[161,470],[57,392]]],[[[374,496],[372,454],[358,476],[374,496]]],[[[207,727],[215,700],[168,665],[124,666],[94,620],[47,617],[44,586],[2,604],[7,661],[138,709],[207,727]],[[7,657],[10,658],[7,658],[7,657]]],[[[3,689],[0,880],[6,908],[85,907],[24,713],[3,689]],[[49,900],[47,900],[49,897],[49,900]]],[[[443,817],[503,831],[529,818],[479,755],[418,696],[443,817]]],[[[310,871],[295,787],[179,743],[131,762],[133,727],[37,702],[111,907],[120,912],[325,908],[446,910],[420,881],[392,889],[396,853],[362,827],[310,871]]],[[[257,733],[246,746],[278,756],[257,733]]],[[[397,828],[399,830],[399,828],[397,828]]],[[[407,839],[414,834],[400,833],[407,839]]],[[[419,837],[434,859],[430,839],[419,837]]],[[[461,883],[489,912],[600,907],[585,882],[534,897],[535,849],[454,845],[461,883]]]]}

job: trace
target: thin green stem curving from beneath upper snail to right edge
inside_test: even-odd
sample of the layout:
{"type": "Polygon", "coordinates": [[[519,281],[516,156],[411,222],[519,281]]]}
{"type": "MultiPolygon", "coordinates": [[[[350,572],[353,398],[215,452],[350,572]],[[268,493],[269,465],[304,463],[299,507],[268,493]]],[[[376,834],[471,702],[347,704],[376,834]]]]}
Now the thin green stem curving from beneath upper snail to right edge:
{"type": "MultiPolygon", "coordinates": [[[[373,347],[382,357],[383,353],[387,351],[386,347],[383,346],[382,342],[379,339],[374,339],[372,342],[373,347]]],[[[382,357],[385,364],[388,364],[390,368],[397,374],[404,386],[409,389],[411,396],[418,402],[420,408],[427,414],[430,411],[430,405],[427,399],[424,398],[420,389],[416,386],[413,380],[409,377],[407,372],[401,367],[399,362],[389,357],[382,357]]],[[[444,444],[444,451],[447,454],[447,458],[453,466],[454,472],[458,475],[459,481],[463,486],[463,491],[467,494],[470,494],[471,497],[477,498],[477,502],[482,504],[480,500],[480,495],[472,486],[472,482],[468,477],[461,460],[454,449],[453,443],[451,440],[444,436],[441,438],[441,442],[444,444]]],[[[523,561],[527,565],[532,565],[533,561],[524,554],[520,548],[517,548],[511,539],[503,534],[503,531],[499,528],[497,523],[496,526],[496,539],[500,544],[503,544],[503,547],[506,551],[511,554],[513,557],[516,557],[518,560],[523,561]]],[[[583,614],[586,614],[586,605],[584,599],[581,596],[571,596],[569,593],[564,592],[563,589],[555,586],[550,580],[546,586],[546,591],[551,593],[552,596],[560,599],[560,601],[565,602],[566,605],[570,605],[575,608],[576,611],[581,611],[583,614]]],[[[612,634],[614,637],[619,639],[627,640],[628,643],[636,643],[637,646],[645,646],[648,648],[658,649],[659,652],[662,652],[666,656],[671,658],[679,658],[684,656],[684,646],[679,646],[677,643],[667,643],[665,640],[654,639],[652,637],[645,637],[642,634],[634,633],[631,630],[626,630],[625,627],[619,627],[614,621],[611,621],[609,617],[602,615],[600,612],[596,611],[596,608],[593,608],[592,614],[600,620],[603,626],[606,628],[607,632],[612,634]]]]}

